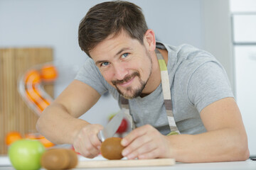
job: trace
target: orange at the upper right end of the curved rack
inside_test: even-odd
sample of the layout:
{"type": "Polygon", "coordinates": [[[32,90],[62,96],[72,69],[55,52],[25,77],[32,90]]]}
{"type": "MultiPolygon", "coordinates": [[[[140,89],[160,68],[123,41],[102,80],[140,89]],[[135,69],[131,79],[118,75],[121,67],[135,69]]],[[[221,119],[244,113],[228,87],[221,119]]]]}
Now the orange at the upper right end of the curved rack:
{"type": "Polygon", "coordinates": [[[41,78],[45,81],[54,81],[58,77],[58,71],[52,64],[41,68],[41,78]]]}

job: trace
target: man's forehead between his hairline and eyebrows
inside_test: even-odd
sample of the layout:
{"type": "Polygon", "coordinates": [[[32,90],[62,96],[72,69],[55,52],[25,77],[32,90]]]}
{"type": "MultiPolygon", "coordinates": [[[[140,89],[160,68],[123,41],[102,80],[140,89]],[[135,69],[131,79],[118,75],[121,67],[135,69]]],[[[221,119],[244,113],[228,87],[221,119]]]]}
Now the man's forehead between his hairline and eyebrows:
{"type": "Polygon", "coordinates": [[[97,60],[100,56],[111,57],[123,48],[134,49],[140,44],[139,40],[131,38],[125,31],[117,35],[110,35],[105,40],[97,44],[91,51],[90,56],[97,60]]]}

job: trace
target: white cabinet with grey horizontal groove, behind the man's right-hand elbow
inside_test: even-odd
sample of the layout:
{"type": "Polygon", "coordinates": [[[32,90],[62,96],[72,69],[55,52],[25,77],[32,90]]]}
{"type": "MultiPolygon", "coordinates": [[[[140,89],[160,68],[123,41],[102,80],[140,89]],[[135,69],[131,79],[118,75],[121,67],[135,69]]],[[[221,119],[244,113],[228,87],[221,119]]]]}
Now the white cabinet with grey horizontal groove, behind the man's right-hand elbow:
{"type": "Polygon", "coordinates": [[[250,155],[256,155],[256,13],[233,14],[235,95],[248,136],[250,155]]]}

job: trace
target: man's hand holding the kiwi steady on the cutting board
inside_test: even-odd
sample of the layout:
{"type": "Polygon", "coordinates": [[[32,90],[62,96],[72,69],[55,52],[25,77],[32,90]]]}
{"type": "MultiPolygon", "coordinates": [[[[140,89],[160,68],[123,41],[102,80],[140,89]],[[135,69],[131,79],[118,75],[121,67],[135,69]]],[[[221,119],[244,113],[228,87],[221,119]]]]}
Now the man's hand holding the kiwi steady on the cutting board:
{"type": "Polygon", "coordinates": [[[121,141],[126,147],[122,155],[128,159],[153,159],[171,157],[171,148],[166,136],[153,128],[144,125],[130,132],[121,141]]]}

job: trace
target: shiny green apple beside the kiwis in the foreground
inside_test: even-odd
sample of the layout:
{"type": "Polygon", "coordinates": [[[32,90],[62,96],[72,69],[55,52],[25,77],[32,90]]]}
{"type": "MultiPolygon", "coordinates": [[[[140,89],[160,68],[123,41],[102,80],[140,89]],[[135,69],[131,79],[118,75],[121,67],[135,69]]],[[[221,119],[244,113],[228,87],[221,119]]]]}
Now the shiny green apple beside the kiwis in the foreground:
{"type": "Polygon", "coordinates": [[[41,156],[45,147],[38,140],[17,140],[8,150],[12,166],[17,170],[37,170],[41,168],[41,156]]]}

